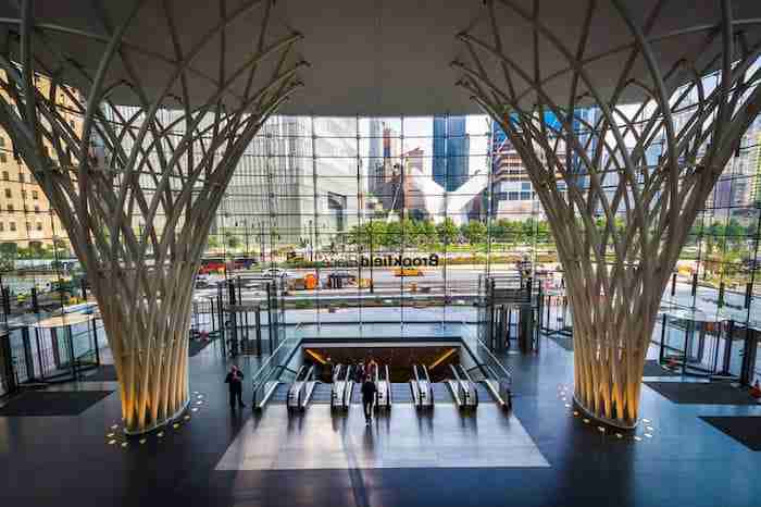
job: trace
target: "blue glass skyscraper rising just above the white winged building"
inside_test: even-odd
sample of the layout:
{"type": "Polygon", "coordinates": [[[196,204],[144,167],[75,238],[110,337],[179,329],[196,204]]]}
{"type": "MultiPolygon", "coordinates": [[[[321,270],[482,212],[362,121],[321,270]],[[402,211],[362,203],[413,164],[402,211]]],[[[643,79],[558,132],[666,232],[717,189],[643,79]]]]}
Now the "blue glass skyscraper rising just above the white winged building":
{"type": "Polygon", "coordinates": [[[434,116],[434,182],[457,190],[469,174],[470,139],[465,116],[434,116]]]}

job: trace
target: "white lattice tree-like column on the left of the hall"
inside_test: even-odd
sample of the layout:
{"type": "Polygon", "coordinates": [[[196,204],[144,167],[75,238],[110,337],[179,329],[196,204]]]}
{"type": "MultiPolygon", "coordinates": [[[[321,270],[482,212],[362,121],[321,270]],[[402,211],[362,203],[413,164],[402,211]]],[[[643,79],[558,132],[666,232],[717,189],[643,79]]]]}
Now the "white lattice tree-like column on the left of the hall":
{"type": "Polygon", "coordinates": [[[164,424],[188,404],[190,302],[212,218],[245,148],[301,84],[301,36],[273,34],[273,3],[227,12],[222,0],[192,34],[179,26],[183,2],[172,1],[122,4],[118,17],[114,4],[93,2],[98,32],[46,23],[32,1],[1,22],[0,124],[91,284],[128,432],[164,424]],[[164,27],[171,54],[130,40],[136,20],[164,27]],[[233,33],[247,41],[237,62],[227,61],[233,33]],[[79,38],[87,54],[63,53],[60,37],[79,38]],[[219,72],[204,74],[199,59],[219,72]]]}

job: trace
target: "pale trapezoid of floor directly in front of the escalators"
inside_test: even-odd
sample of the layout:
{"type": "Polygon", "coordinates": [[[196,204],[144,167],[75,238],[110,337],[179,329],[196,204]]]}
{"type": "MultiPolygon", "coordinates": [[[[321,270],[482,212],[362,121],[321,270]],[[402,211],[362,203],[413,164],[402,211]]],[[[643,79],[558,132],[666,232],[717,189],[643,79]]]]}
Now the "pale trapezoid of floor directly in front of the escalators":
{"type": "Polygon", "coordinates": [[[432,413],[395,405],[365,425],[361,405],[348,416],[312,406],[289,417],[283,405],[250,419],[216,470],[549,467],[514,416],[496,405],[461,415],[452,404],[432,413]]]}

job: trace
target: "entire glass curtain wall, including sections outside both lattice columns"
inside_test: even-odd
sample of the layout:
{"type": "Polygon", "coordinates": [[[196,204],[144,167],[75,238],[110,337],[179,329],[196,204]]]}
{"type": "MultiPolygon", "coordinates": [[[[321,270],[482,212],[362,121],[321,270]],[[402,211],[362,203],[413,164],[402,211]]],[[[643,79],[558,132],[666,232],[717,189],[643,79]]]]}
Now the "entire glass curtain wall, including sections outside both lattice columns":
{"type": "MultiPolygon", "coordinates": [[[[594,124],[594,111],[578,114],[594,124]]],[[[761,325],[760,177],[757,121],[693,226],[664,294],[666,310],[761,325]]],[[[613,191],[615,181],[607,185],[613,191]]],[[[138,233],[144,225],[137,218],[133,224],[138,233]]],[[[330,332],[351,335],[378,326],[387,335],[439,333],[444,324],[476,322],[484,274],[528,264],[542,288],[563,285],[521,158],[484,115],[272,118],[232,178],[204,259],[212,281],[285,274],[288,323],[350,323],[330,332]]],[[[5,133],[0,276],[2,319],[13,325],[80,302],[86,286],[55,211],[5,133]]],[[[674,329],[684,335],[670,326],[666,339],[674,329]]],[[[653,338],[661,336],[657,330],[653,338]]]]}

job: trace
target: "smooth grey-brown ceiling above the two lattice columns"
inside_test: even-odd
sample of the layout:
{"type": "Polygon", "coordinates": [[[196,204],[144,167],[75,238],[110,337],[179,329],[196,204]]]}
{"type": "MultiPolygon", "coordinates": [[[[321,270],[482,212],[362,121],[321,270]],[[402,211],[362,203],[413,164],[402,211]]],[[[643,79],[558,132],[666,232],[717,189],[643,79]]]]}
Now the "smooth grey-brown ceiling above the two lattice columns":
{"type": "MultiPolygon", "coordinates": [[[[3,29],[11,35],[9,40],[15,40],[18,33],[18,23],[13,20],[20,13],[14,3],[0,4],[0,16],[7,18],[3,29]]],[[[525,71],[523,78],[513,73],[516,88],[528,90],[528,79],[538,75],[547,81],[544,88],[549,98],[567,101],[572,83],[567,57],[576,53],[583,38],[587,2],[539,2],[539,20],[547,32],[538,37],[538,69],[533,25],[524,17],[533,15],[534,0],[496,0],[495,3],[503,52],[525,71]],[[567,54],[559,49],[561,46],[567,49],[567,54]]],[[[645,25],[654,5],[661,5],[650,36],[681,33],[652,44],[653,59],[664,72],[679,59],[701,69],[718,53],[719,37],[711,39],[711,34],[712,30],[715,34],[721,20],[720,0],[621,0],[621,3],[631,11],[638,26],[645,25]]],[[[731,3],[735,20],[756,20],[737,28],[745,33],[743,44],[752,47],[761,40],[761,1],[731,3]]],[[[88,78],[84,76],[96,73],[108,34],[129,17],[133,0],[38,0],[34,5],[34,52],[38,65],[45,72],[62,72],[67,82],[87,90],[88,78]],[[76,66],[62,67],[59,63],[62,58],[76,62],[76,66]]],[[[126,44],[105,70],[110,97],[116,102],[135,103],[136,88],[153,99],[167,87],[170,98],[164,102],[170,107],[178,104],[184,90],[180,79],[172,79],[178,60],[176,48],[187,54],[223,15],[240,12],[227,25],[224,37],[219,33],[209,37],[191,61],[187,91],[192,103],[202,103],[214,96],[221,76],[229,78],[236,65],[255,50],[265,8],[265,1],[251,0],[144,1],[125,32],[126,44]]],[[[481,112],[469,94],[454,85],[463,72],[450,64],[456,60],[473,64],[466,46],[457,37],[463,30],[495,44],[488,8],[483,0],[277,0],[270,20],[262,39],[265,46],[299,33],[303,39],[288,61],[296,63],[303,59],[310,64],[299,70],[304,86],[282,112],[317,115],[481,112]]],[[[597,0],[582,53],[588,76],[581,79],[577,95],[584,95],[590,86],[604,98],[612,94],[631,53],[631,34],[614,1],[597,0]]],[[[17,44],[14,48],[17,50],[17,44]]],[[[482,55],[485,70],[504,88],[499,60],[487,53],[482,55]]],[[[259,64],[254,86],[267,82],[277,62],[273,55],[259,64]]],[[[635,58],[631,75],[645,86],[652,85],[641,54],[635,58]]],[[[685,78],[684,73],[675,73],[666,84],[674,87],[685,78]]],[[[238,78],[223,100],[235,107],[245,88],[246,78],[238,78]]],[[[637,88],[629,87],[624,98],[639,100],[641,88],[637,88]]],[[[524,106],[535,100],[533,92],[523,96],[524,106]]]]}

